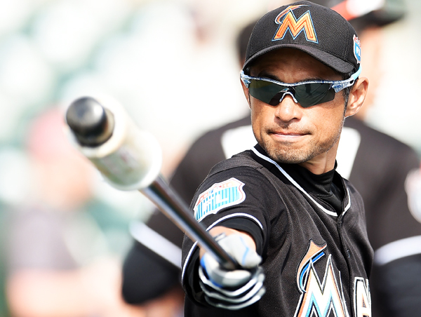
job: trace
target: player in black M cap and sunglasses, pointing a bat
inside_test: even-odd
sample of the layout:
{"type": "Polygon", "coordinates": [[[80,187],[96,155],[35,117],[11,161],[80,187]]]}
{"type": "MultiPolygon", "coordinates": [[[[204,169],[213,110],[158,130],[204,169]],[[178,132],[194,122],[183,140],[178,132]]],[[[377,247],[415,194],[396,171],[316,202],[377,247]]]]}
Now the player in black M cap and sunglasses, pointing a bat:
{"type": "Polygon", "coordinates": [[[335,171],[345,117],[366,97],[360,72],[335,11],[299,1],[257,22],[241,81],[258,144],[218,163],[191,205],[238,266],[186,236],[185,316],[370,316],[363,202],[335,171]]]}

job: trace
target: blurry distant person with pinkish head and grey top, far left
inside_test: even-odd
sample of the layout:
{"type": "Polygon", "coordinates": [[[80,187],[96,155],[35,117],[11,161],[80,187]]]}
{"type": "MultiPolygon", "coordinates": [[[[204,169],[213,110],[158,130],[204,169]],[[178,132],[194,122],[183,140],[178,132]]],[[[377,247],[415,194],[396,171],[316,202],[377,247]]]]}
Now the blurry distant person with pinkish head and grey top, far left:
{"type": "Polygon", "coordinates": [[[33,170],[28,180],[33,186],[8,229],[6,292],[11,313],[145,316],[121,299],[119,259],[107,252],[103,232],[86,212],[93,168],[66,140],[63,117],[50,109],[27,133],[33,170]]]}

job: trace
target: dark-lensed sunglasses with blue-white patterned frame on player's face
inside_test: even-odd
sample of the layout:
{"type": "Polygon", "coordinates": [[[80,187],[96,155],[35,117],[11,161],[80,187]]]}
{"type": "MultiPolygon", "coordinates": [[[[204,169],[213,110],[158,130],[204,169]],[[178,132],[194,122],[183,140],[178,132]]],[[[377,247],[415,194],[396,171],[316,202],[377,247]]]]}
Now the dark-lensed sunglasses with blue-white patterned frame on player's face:
{"type": "Polygon", "coordinates": [[[248,88],[250,95],[256,99],[276,106],[283,97],[290,95],[301,107],[312,107],[315,104],[332,101],[335,93],[352,86],[361,74],[361,66],[358,71],[344,81],[301,81],[300,83],[283,83],[265,77],[252,77],[240,73],[241,81],[248,88]]]}

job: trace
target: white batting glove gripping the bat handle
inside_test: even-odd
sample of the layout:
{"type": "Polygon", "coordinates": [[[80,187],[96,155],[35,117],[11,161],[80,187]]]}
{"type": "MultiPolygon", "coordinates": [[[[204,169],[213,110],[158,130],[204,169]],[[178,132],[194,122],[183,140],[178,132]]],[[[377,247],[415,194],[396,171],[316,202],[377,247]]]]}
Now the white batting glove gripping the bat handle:
{"type": "Polygon", "coordinates": [[[265,294],[265,274],[258,267],[262,258],[246,245],[239,234],[222,234],[217,241],[243,269],[227,270],[206,252],[199,266],[199,284],[206,301],[231,310],[257,302],[265,294]]]}

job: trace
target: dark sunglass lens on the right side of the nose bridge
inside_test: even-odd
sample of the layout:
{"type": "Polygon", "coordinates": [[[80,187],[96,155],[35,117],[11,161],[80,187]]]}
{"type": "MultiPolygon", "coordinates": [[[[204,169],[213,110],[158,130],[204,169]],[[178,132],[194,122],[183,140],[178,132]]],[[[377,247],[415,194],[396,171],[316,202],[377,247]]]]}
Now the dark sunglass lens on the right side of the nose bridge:
{"type": "Polygon", "coordinates": [[[302,107],[311,107],[335,99],[335,90],[330,89],[330,83],[305,83],[294,88],[295,98],[302,107]]]}

